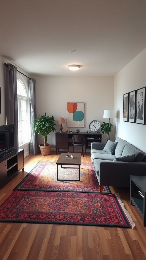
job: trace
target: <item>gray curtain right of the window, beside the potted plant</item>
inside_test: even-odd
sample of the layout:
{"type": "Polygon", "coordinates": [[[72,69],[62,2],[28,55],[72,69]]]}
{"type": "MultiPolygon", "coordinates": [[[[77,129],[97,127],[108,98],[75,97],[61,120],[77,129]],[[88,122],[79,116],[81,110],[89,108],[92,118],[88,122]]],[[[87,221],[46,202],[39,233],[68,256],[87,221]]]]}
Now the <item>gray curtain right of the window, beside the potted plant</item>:
{"type": "Polygon", "coordinates": [[[38,134],[33,130],[31,124],[36,117],[36,80],[29,80],[29,97],[30,97],[30,151],[29,154],[38,153],[38,134]]]}

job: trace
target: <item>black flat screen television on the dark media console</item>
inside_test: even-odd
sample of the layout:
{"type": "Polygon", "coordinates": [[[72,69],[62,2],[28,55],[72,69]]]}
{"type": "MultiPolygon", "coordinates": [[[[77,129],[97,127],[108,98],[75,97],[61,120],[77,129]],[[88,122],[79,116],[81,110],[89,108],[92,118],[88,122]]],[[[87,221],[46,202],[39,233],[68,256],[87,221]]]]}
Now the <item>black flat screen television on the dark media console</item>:
{"type": "Polygon", "coordinates": [[[13,151],[14,124],[0,126],[0,157],[12,153],[13,151]]]}

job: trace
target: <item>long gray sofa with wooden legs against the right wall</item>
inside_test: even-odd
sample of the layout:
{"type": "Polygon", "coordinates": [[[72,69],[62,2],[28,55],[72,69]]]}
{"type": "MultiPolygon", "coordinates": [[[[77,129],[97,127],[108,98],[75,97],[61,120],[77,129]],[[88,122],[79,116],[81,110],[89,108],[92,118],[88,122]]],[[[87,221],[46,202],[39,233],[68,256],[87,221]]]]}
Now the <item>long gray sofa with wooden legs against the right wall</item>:
{"type": "Polygon", "coordinates": [[[114,154],[103,151],[107,143],[91,143],[91,160],[100,185],[100,193],[103,186],[130,187],[130,175],[146,176],[146,153],[121,138],[116,138],[115,142],[118,143],[114,154]],[[115,158],[133,154],[134,161],[114,161],[115,158]]]}

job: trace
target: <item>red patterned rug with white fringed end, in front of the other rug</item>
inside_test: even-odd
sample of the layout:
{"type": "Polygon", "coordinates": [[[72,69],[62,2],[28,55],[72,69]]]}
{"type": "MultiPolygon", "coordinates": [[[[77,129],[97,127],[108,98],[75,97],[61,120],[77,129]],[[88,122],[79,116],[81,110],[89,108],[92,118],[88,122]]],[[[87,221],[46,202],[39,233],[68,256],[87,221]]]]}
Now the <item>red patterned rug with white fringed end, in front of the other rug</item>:
{"type": "Polygon", "coordinates": [[[1,222],[134,228],[116,194],[13,191],[0,206],[1,222]]]}

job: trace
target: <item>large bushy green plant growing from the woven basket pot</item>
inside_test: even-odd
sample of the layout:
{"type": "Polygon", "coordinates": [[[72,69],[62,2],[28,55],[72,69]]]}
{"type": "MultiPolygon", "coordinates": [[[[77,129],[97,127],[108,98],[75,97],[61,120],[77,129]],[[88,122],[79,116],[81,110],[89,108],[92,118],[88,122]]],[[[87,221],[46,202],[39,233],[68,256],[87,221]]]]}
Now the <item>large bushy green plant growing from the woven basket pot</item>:
{"type": "Polygon", "coordinates": [[[56,131],[56,126],[54,116],[47,116],[41,115],[38,117],[38,119],[35,119],[34,122],[32,122],[32,125],[34,125],[34,131],[37,134],[40,134],[44,138],[44,146],[48,145],[47,137],[51,132],[56,131]]]}

